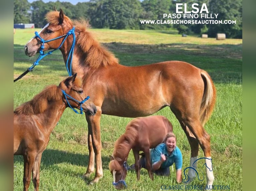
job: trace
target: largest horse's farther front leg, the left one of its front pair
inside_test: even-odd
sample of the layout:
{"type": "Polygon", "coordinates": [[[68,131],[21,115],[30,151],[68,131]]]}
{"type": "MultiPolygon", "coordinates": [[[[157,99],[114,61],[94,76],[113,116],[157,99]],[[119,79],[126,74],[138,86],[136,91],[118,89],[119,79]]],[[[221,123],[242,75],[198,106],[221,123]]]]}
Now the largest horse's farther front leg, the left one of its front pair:
{"type": "MultiPolygon", "coordinates": [[[[87,121],[88,122],[88,121],[87,121]]],[[[92,142],[92,126],[91,123],[88,122],[88,149],[89,149],[89,162],[85,177],[89,177],[94,172],[94,150],[93,150],[93,142],[92,142]]]]}

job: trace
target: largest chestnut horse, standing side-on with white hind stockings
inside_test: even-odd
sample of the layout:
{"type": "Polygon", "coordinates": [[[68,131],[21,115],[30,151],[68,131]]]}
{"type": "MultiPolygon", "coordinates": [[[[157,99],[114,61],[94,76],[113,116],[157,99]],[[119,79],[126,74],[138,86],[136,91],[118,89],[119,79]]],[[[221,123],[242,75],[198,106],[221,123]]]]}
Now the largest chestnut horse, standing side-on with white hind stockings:
{"type": "MultiPolygon", "coordinates": [[[[95,116],[86,115],[89,163],[85,176],[94,172],[94,153],[96,156],[96,173],[90,183],[103,176],[101,114],[141,117],[168,106],[188,138],[190,166],[198,158],[199,145],[205,157],[211,158],[210,136],[204,125],[213,111],[216,90],[206,71],[181,61],[123,66],[93,38],[85,22],[72,22],[62,10],[47,13],[46,19],[49,23],[25,45],[24,51],[31,57],[42,50],[59,48],[68,71],[83,77],[84,91],[90,92],[98,109],[95,116]]],[[[206,172],[207,184],[212,185],[213,171],[206,172]]],[[[193,171],[189,173],[196,177],[193,171]]]]}

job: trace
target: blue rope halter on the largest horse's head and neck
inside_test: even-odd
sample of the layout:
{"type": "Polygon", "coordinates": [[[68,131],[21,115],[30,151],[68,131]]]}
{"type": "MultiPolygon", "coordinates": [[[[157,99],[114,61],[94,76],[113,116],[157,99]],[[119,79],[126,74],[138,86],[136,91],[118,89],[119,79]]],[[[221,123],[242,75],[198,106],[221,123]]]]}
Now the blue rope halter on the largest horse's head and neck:
{"type": "Polygon", "coordinates": [[[40,55],[38,56],[37,60],[33,63],[33,65],[28,68],[28,71],[32,71],[33,68],[39,64],[39,61],[42,60],[45,56],[47,56],[49,54],[52,54],[52,52],[55,51],[55,50],[60,49],[60,47],[63,45],[63,43],[66,41],[66,39],[70,35],[73,35],[73,43],[72,43],[72,46],[71,46],[71,49],[70,49],[70,52],[69,52],[69,56],[68,56],[68,59],[67,59],[66,68],[67,68],[69,76],[72,76],[72,59],[73,59],[73,53],[74,53],[75,43],[76,43],[75,27],[73,27],[67,34],[59,36],[59,37],[56,37],[54,39],[47,40],[47,41],[42,39],[38,32],[35,32],[35,37],[34,38],[39,38],[40,42],[42,43],[42,45],[41,45],[41,47],[40,47],[41,49],[39,51],[40,55]],[[50,42],[50,41],[54,41],[54,40],[57,40],[57,39],[60,39],[60,38],[64,38],[64,39],[62,40],[62,42],[59,45],[59,47],[54,49],[54,50],[52,50],[52,51],[47,52],[46,54],[44,54],[44,52],[43,52],[44,43],[47,43],[47,42],[50,42]],[[69,62],[70,62],[70,66],[68,67],[69,62]]]}

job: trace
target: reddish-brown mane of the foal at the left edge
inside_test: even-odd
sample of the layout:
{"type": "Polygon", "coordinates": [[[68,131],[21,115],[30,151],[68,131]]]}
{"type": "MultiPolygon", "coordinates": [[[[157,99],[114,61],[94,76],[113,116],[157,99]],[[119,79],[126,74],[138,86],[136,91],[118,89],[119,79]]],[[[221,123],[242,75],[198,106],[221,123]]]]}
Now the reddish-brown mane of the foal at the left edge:
{"type": "Polygon", "coordinates": [[[42,113],[52,101],[61,99],[62,92],[56,85],[51,85],[45,88],[42,92],[35,95],[32,100],[27,101],[16,107],[14,113],[35,115],[42,113]]]}

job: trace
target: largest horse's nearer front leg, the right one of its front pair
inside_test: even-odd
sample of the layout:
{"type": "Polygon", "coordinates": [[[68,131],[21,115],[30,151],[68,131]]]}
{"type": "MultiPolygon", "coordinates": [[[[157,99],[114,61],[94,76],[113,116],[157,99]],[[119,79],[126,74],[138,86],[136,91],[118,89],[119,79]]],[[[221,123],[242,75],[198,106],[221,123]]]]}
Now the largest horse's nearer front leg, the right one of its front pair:
{"type": "MultiPolygon", "coordinates": [[[[91,131],[91,139],[93,150],[96,157],[96,172],[94,179],[90,184],[96,183],[100,178],[103,177],[102,161],[101,161],[101,132],[100,132],[100,118],[101,118],[101,108],[97,107],[97,112],[94,116],[86,115],[86,120],[88,122],[88,128],[91,131]]],[[[89,137],[88,137],[89,138],[89,137]]]]}

